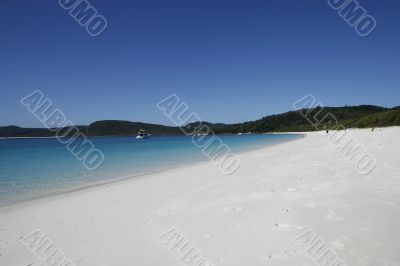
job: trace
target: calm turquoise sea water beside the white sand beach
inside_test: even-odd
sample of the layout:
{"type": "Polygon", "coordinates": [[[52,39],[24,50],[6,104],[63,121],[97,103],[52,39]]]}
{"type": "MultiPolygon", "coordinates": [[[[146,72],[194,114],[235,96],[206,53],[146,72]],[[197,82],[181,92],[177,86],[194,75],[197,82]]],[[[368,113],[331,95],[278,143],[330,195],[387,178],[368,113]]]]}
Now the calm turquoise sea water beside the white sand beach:
{"type": "MultiPolygon", "coordinates": [[[[301,135],[220,135],[240,153],[301,137],[301,135]]],[[[22,202],[103,182],[121,180],[181,165],[205,161],[191,137],[93,137],[105,155],[95,171],[88,171],[57,139],[0,140],[0,205],[22,202]]],[[[217,167],[217,166],[216,166],[217,167]]]]}

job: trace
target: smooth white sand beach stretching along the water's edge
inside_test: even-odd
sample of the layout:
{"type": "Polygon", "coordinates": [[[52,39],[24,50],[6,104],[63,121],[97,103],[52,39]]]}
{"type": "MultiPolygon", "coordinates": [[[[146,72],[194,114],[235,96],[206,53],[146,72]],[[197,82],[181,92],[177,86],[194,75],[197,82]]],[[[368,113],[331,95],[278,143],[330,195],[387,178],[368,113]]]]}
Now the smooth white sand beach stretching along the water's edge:
{"type": "Polygon", "coordinates": [[[182,265],[158,241],[173,227],[214,266],[316,265],[293,242],[306,229],[347,265],[400,265],[400,128],[351,133],[368,176],[310,133],[240,154],[232,176],[205,162],[1,208],[0,265],[41,265],[19,241],[35,229],[76,265],[182,265]]]}

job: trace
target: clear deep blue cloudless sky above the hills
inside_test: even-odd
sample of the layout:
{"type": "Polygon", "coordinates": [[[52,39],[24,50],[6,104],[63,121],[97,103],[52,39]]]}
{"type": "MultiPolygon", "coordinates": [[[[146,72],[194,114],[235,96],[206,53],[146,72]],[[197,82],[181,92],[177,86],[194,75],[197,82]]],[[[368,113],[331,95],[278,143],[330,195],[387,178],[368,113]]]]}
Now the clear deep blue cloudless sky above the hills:
{"type": "Polygon", "coordinates": [[[178,94],[211,122],[292,109],[400,105],[400,2],[359,0],[377,20],[360,37],[325,0],[91,0],[93,38],[57,0],[0,0],[0,125],[40,127],[19,103],[41,89],[76,124],[171,124],[178,94]]]}

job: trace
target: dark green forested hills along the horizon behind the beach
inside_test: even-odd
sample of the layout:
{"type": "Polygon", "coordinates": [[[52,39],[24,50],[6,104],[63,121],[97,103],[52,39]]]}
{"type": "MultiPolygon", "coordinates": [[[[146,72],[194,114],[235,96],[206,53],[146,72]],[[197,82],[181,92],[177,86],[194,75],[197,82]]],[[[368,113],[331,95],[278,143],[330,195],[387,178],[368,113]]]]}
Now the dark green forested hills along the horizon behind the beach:
{"type": "MultiPolygon", "coordinates": [[[[316,114],[321,111],[321,109],[318,108],[304,110],[310,111],[311,114],[316,114]]],[[[339,123],[347,128],[400,126],[400,106],[394,108],[385,108],[374,105],[324,107],[319,116],[322,117],[324,114],[328,113],[333,114],[339,123]]],[[[237,124],[201,123],[207,124],[216,134],[235,134],[239,132],[300,132],[316,130],[299,111],[290,111],[282,114],[265,116],[255,121],[237,124]]],[[[140,129],[146,129],[152,135],[183,134],[178,127],[120,120],[96,121],[87,126],[77,127],[87,136],[133,136],[136,135],[140,129]]],[[[330,129],[332,127],[333,124],[326,121],[320,125],[319,129],[330,129]]],[[[68,128],[65,128],[63,130],[67,129],[68,128]]],[[[17,126],[0,127],[0,137],[2,138],[52,136],[54,136],[54,132],[46,128],[22,128],[17,126]]]]}

